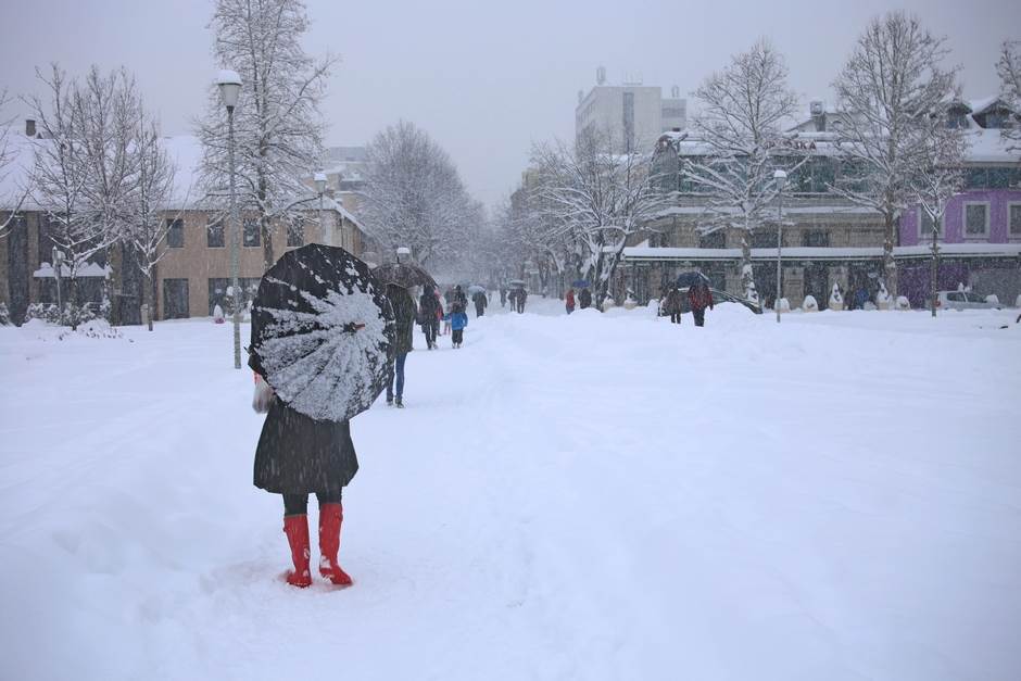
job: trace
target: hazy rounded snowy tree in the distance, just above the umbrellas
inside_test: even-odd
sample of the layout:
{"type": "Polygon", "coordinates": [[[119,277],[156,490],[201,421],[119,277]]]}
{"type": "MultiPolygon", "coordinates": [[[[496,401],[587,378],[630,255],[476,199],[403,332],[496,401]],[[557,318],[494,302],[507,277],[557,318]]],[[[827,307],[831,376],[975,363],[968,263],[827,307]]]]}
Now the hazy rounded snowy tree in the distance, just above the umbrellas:
{"type": "Polygon", "coordinates": [[[479,209],[450,156],[401,121],[373,139],[361,215],[382,248],[407,247],[423,264],[461,253],[479,209]]]}

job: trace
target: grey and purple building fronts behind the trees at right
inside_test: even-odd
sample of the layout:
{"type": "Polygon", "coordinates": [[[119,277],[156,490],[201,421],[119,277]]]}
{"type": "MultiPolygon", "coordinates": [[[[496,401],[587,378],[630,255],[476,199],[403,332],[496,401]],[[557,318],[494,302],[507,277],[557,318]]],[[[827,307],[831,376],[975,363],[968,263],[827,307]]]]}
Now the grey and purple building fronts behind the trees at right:
{"type": "MultiPolygon", "coordinates": [[[[995,99],[965,106],[963,117],[951,116],[950,124],[967,128],[966,187],[949,202],[941,226],[937,286],[963,285],[1012,304],[1021,294],[1021,159],[1008,150],[1000,130],[1016,124],[1017,117],[1005,115],[1004,103],[995,99]]],[[[779,294],[794,306],[812,295],[825,307],[834,283],[845,292],[865,290],[874,298],[882,280],[881,216],[830,189],[848,172],[834,144],[832,128],[840,117],[814,102],[809,116],[790,135],[797,151],[808,155],[789,177],[781,218],[779,294]]],[[[677,192],[677,205],[625,249],[615,298],[628,290],[641,302],[659,298],[677,274],[689,269],[706,274],[715,288],[743,294],[743,230],[710,224],[707,198],[683,179],[685,161],[699,153],[703,146],[685,135],[665,134],[657,141],[654,172],[667,178],[670,186],[665,191],[677,192]]],[[[778,205],[778,216],[780,210],[778,205]]],[[[777,224],[767,222],[749,237],[753,276],[767,305],[778,295],[777,224]]],[[[917,307],[924,306],[929,297],[931,232],[931,223],[918,207],[902,215],[894,248],[898,294],[917,307]]]]}

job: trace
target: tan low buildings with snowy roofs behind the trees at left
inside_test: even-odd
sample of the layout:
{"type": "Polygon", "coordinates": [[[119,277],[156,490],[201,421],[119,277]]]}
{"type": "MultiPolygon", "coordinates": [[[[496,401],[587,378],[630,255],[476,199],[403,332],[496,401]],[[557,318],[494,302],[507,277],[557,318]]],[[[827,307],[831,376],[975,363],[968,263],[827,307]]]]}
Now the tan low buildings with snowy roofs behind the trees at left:
{"type": "MultiPolygon", "coordinates": [[[[198,167],[182,165],[181,160],[201,157],[194,153],[197,140],[167,138],[165,143],[173,151],[171,157],[178,161],[176,184],[193,186],[198,167]]],[[[22,184],[27,181],[25,174],[22,184]]],[[[342,247],[362,255],[365,235],[354,215],[333,199],[332,189],[303,199],[302,210],[270,227],[275,257],[313,242],[342,247]]],[[[224,219],[222,209],[202,207],[203,201],[187,192],[175,192],[172,204],[176,205],[169,205],[163,213],[165,251],[154,269],[153,318],[204,317],[216,305],[226,310],[230,286],[229,220],[224,219]]],[[[10,215],[11,207],[0,206],[0,224],[10,215]]],[[[28,200],[13,218],[8,236],[0,239],[0,303],[17,324],[25,319],[29,305],[58,302],[59,282],[51,266],[53,242],[48,231],[46,211],[28,200]]],[[[240,285],[247,304],[264,272],[262,235],[255,215],[241,215],[241,244],[240,285]]],[[[116,243],[79,268],[78,300],[92,307],[106,300],[113,323],[140,324],[146,285],[130,249],[116,243]]]]}

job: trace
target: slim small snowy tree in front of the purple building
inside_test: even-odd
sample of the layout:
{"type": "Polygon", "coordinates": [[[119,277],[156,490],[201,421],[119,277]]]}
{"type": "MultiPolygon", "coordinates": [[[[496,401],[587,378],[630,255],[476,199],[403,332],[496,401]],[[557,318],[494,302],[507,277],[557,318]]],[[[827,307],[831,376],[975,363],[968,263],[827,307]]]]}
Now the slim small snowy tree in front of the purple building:
{"type": "Polygon", "coordinates": [[[965,128],[948,122],[945,105],[924,114],[922,124],[919,130],[924,139],[922,155],[910,181],[919,205],[918,218],[928,219],[931,225],[929,299],[932,316],[935,317],[940,231],[947,204],[965,186],[963,163],[968,140],[965,128]]]}

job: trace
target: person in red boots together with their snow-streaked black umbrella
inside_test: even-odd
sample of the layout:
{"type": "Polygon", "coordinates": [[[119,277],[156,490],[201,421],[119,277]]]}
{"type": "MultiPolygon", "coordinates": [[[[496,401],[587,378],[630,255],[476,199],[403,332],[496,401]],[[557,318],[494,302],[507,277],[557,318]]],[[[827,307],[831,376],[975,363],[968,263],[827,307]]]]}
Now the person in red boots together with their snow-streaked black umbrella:
{"type": "Polygon", "coordinates": [[[368,267],[343,249],[308,244],[263,277],[252,305],[249,366],[273,389],[255,450],[254,484],[283,497],[294,569],[312,583],[308,494],[319,503],[319,575],[340,567],[343,488],[358,470],[350,419],[382,391],[393,343],[390,305],[368,267]]]}

